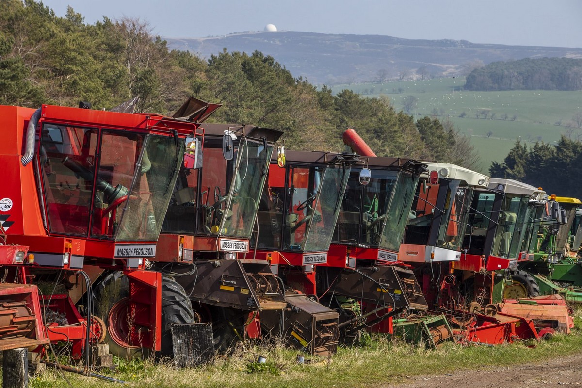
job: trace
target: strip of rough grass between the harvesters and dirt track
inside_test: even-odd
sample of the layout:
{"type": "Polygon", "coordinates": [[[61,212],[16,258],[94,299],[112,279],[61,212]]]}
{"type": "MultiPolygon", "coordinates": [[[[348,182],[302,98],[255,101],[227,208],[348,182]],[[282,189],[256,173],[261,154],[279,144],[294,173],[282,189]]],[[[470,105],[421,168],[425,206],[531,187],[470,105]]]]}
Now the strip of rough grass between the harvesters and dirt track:
{"type": "MultiPolygon", "coordinates": [[[[448,343],[438,350],[425,350],[423,347],[379,339],[368,341],[367,346],[363,347],[340,348],[329,363],[325,359],[306,357],[311,358],[313,363],[304,365],[296,364],[296,351],[278,346],[244,352],[239,349],[232,358],[219,358],[214,365],[200,368],[176,370],[169,365],[154,365],[145,361],[125,365],[123,372],[109,375],[129,382],[127,386],[130,387],[370,388],[403,382],[416,375],[442,375],[459,369],[539,362],[578,353],[581,349],[582,317],[577,316],[573,334],[557,334],[552,340],[540,343],[526,341],[496,347],[464,347],[448,343]],[[528,347],[532,344],[535,346],[528,347]],[[267,358],[267,365],[257,365],[258,354],[267,358]]],[[[67,373],[67,378],[74,387],[112,385],[71,373],[67,373]]],[[[31,387],[67,386],[54,370],[48,370],[31,382],[31,387]]]]}

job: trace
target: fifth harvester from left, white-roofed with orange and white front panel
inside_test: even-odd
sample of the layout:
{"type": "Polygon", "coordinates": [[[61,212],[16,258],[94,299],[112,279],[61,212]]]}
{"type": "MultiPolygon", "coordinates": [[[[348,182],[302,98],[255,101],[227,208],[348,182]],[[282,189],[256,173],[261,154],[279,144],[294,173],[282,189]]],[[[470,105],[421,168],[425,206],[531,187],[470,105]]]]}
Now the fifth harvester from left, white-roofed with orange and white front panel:
{"type": "MultiPolygon", "coordinates": [[[[487,188],[489,177],[448,163],[429,163],[416,188],[411,217],[398,258],[414,268],[432,311],[455,309],[457,279],[452,275],[467,233],[475,191],[487,188]]],[[[419,330],[450,332],[442,314],[418,316],[397,322],[397,332],[414,338],[419,330]]],[[[431,342],[431,344],[434,341],[431,342]]],[[[438,344],[438,341],[435,342],[438,344]]]]}

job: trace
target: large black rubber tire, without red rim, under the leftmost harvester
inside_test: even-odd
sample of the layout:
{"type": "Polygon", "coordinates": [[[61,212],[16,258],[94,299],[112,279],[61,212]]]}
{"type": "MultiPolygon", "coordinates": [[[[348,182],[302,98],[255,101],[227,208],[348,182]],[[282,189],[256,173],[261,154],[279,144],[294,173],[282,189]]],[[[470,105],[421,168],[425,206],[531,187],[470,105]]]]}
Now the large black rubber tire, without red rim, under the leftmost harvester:
{"type": "MultiPolygon", "coordinates": [[[[107,336],[105,343],[109,344],[109,352],[122,358],[147,358],[151,349],[142,347],[126,347],[112,338],[109,325],[109,312],[116,302],[129,297],[129,280],[123,276],[123,272],[116,271],[107,275],[101,283],[95,287],[95,315],[105,322],[107,336]]],[[[184,289],[175,280],[162,277],[162,335],[161,351],[156,354],[159,357],[172,357],[172,332],[171,323],[194,322],[194,311],[190,299],[184,289]]]]}

